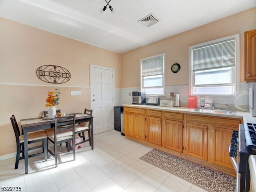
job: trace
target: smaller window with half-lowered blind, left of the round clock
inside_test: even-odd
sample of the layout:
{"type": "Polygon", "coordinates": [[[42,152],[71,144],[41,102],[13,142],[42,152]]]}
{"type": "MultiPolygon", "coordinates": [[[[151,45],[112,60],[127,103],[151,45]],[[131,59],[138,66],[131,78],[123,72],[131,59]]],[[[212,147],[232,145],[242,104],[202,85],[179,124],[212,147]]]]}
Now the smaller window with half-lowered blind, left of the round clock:
{"type": "Polygon", "coordinates": [[[140,60],[140,90],[147,95],[164,95],[165,53],[140,60]]]}

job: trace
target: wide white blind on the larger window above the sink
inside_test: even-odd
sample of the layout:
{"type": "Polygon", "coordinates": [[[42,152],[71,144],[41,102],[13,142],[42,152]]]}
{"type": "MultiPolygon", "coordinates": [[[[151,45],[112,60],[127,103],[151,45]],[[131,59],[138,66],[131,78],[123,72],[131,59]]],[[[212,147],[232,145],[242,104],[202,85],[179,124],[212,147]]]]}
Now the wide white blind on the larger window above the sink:
{"type": "Polygon", "coordinates": [[[235,51],[235,38],[193,48],[193,71],[233,67],[236,64],[235,51]]]}

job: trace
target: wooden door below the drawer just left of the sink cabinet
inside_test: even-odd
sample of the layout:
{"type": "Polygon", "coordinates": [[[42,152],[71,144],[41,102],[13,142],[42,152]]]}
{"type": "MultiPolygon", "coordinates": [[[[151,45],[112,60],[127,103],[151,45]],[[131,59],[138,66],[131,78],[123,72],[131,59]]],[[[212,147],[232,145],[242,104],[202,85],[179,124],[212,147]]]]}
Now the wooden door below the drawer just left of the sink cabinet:
{"type": "Polygon", "coordinates": [[[164,120],[162,146],[182,153],[183,122],[164,120]]]}

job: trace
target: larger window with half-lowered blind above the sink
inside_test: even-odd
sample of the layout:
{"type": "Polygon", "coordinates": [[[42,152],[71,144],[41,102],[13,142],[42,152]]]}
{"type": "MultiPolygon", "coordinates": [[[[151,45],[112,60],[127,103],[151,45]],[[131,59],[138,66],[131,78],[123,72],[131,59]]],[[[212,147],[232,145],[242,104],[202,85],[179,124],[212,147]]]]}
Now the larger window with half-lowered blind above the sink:
{"type": "Polygon", "coordinates": [[[239,34],[189,47],[190,93],[234,95],[239,84],[239,34]]]}

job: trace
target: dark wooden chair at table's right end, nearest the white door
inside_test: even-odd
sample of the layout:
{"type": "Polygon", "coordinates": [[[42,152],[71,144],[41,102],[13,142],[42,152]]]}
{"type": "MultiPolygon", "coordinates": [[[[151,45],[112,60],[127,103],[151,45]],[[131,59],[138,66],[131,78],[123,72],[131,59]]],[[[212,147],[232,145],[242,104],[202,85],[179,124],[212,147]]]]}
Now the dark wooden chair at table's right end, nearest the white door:
{"type": "MultiPolygon", "coordinates": [[[[92,110],[84,109],[84,114],[92,116],[92,110]]],[[[80,136],[80,138],[83,138],[83,140],[79,143],[76,143],[76,145],[79,145],[81,143],[89,141],[89,144],[91,146],[92,137],[91,137],[91,125],[89,122],[80,123],[80,124],[76,125],[75,126],[75,134],[78,134],[80,136]],[[87,134],[88,134],[88,139],[85,139],[85,136],[84,136],[85,132],[87,132],[87,134]],[[81,136],[81,134],[82,134],[82,136],[81,136]]]]}

